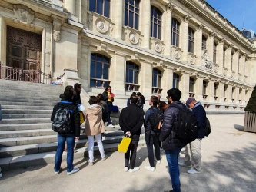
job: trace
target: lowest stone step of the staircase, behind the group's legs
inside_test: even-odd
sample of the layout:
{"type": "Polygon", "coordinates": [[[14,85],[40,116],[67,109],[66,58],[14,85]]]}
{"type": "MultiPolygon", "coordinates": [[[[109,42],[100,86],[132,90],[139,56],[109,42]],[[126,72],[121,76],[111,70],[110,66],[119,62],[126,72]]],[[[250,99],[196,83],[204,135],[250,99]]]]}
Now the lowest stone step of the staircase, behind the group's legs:
{"type": "MultiPolygon", "coordinates": [[[[145,140],[141,139],[139,145],[145,145],[145,140]]],[[[105,153],[117,151],[118,143],[104,144],[105,153]]],[[[88,147],[81,147],[74,154],[74,159],[88,157],[88,147]]],[[[95,154],[99,154],[98,148],[94,147],[95,154]]],[[[66,161],[67,154],[63,153],[62,161],[66,161]]],[[[28,154],[17,157],[7,157],[0,159],[0,167],[2,170],[15,170],[18,168],[28,168],[38,165],[54,164],[55,152],[45,152],[38,154],[28,154]]]]}

